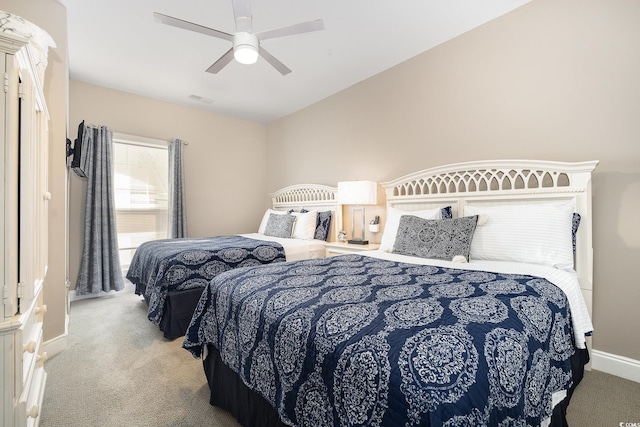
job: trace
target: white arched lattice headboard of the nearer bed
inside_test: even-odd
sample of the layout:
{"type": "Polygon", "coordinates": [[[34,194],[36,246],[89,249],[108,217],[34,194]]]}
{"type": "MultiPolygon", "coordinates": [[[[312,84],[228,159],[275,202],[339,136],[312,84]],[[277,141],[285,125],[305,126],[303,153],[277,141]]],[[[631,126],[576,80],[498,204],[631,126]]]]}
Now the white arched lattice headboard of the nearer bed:
{"type": "Polygon", "coordinates": [[[451,206],[454,218],[470,204],[571,201],[581,216],[575,268],[591,314],[593,246],[591,172],[598,161],[486,160],[415,172],[382,183],[387,206],[419,210],[451,206]]]}

